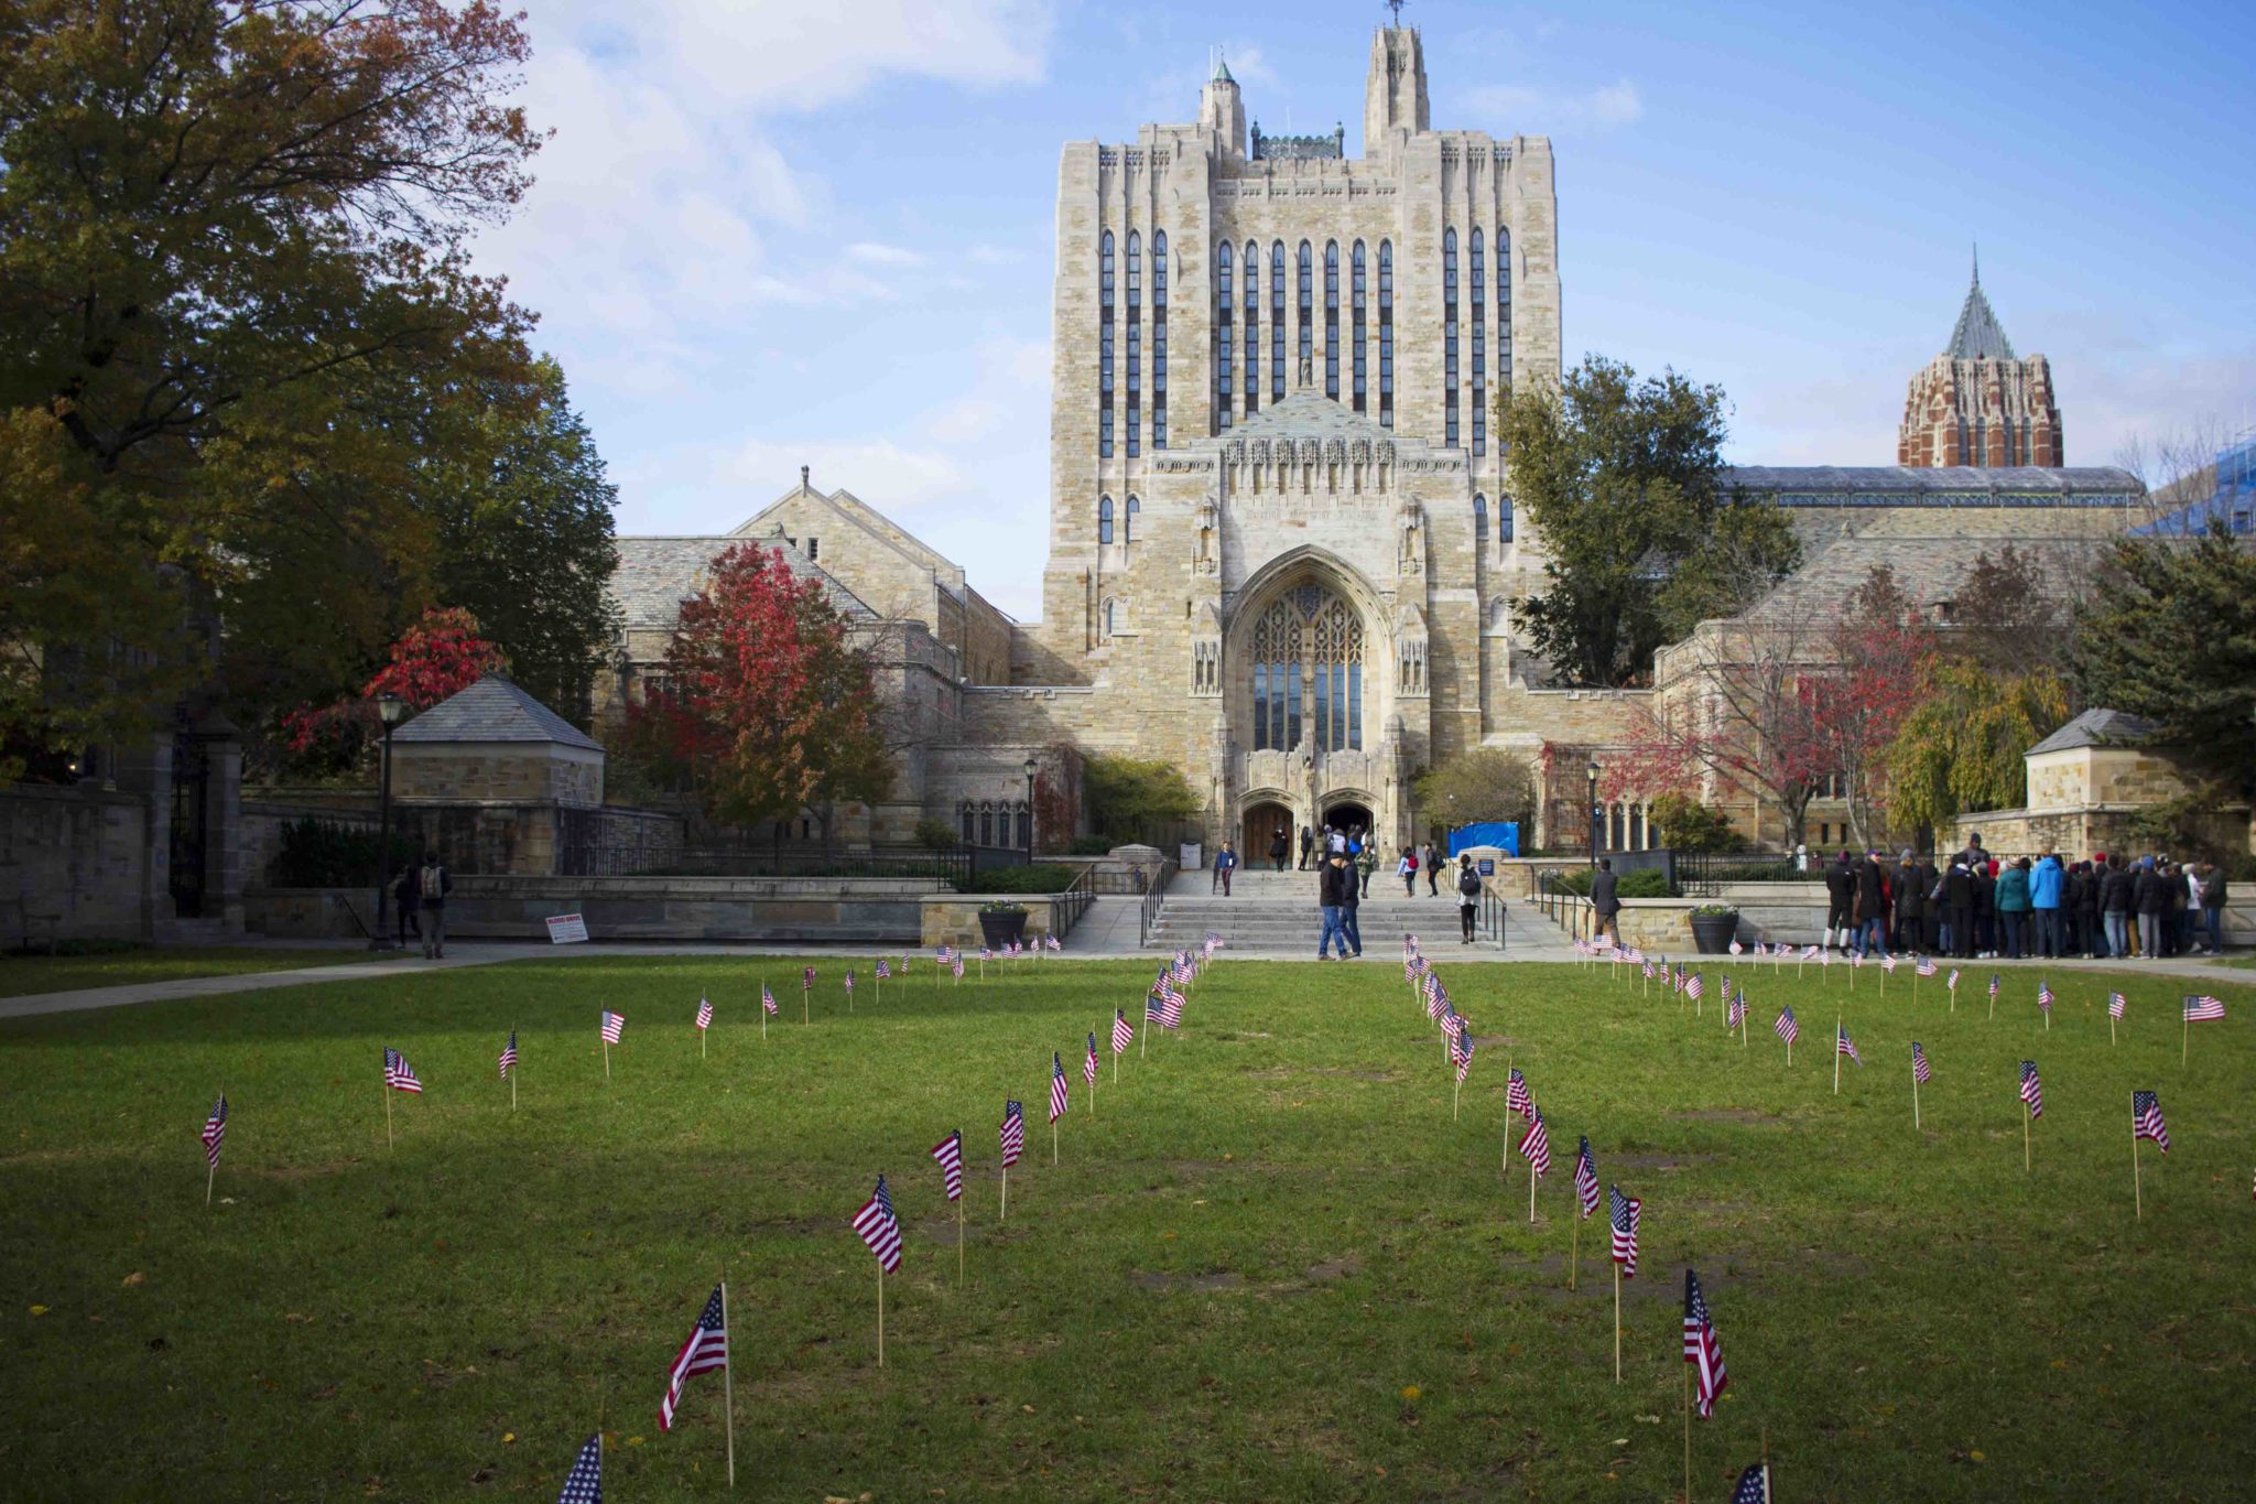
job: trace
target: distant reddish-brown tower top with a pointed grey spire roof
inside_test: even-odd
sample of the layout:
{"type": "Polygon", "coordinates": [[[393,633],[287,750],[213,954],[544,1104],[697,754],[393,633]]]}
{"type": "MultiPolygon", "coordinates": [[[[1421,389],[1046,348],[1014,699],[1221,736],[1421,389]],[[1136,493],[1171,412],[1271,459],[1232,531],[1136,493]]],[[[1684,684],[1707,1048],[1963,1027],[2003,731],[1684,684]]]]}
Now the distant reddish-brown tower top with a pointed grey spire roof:
{"type": "Polygon", "coordinates": [[[1951,343],[1911,377],[1897,465],[2012,467],[2066,465],[2053,365],[2015,356],[2006,327],[1981,291],[1981,262],[1967,286],[1951,343]]]}

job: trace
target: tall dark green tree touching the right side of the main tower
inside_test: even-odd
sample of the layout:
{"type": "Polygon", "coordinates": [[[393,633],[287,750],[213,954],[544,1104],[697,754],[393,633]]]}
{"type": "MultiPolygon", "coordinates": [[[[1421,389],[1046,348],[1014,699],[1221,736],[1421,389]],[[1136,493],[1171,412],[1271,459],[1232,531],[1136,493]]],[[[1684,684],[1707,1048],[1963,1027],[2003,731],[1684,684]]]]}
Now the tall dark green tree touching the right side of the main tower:
{"type": "Polygon", "coordinates": [[[1512,494],[1548,555],[1525,622],[1561,679],[1636,683],[1654,649],[1800,561],[1782,512],[1728,494],[1724,431],[1721,388],[1602,356],[1498,404],[1512,494]]]}

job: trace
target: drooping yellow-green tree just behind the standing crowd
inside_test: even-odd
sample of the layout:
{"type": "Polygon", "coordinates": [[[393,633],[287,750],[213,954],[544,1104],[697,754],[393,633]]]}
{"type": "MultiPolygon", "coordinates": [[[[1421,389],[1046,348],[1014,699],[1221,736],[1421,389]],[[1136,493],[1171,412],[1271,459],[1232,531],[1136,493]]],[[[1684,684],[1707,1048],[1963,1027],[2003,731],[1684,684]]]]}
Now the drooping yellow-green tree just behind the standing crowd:
{"type": "Polygon", "coordinates": [[[1994,674],[1931,654],[1918,670],[1918,704],[1888,744],[1888,821],[1940,830],[1965,809],[2026,805],[2021,753],[2066,717],[2069,692],[2051,670],[1994,674]]]}

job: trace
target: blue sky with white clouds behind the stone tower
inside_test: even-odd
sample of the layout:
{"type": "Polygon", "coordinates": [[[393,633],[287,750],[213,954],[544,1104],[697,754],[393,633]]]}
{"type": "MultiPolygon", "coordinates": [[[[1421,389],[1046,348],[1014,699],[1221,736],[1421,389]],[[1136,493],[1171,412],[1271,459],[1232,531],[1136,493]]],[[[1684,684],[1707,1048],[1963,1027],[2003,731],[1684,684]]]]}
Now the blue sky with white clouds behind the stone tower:
{"type": "MultiPolygon", "coordinates": [[[[814,467],[1038,613],[1058,149],[1196,117],[1358,151],[1378,5],[526,0],[555,140],[481,262],[541,313],[623,532],[814,467]]],[[[1969,244],[2069,460],[2256,424],[2245,7],[1417,0],[1433,120],[1550,135],[1568,359],[1733,399],[1730,458],[1888,465],[1969,244]]]]}

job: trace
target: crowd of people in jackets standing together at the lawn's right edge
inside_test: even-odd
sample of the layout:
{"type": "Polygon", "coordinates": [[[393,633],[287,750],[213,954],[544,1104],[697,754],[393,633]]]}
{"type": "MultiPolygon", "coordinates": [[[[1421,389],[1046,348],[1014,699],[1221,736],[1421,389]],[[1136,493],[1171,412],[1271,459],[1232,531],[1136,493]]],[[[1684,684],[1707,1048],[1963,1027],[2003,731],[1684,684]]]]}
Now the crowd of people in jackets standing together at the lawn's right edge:
{"type": "Polygon", "coordinates": [[[1886,956],[1893,945],[1967,961],[2105,961],[2222,954],[2229,884],[2213,861],[2164,855],[1999,859],[1974,834],[1940,868],[1909,850],[1888,864],[1843,848],[1825,868],[1825,945],[1843,954],[1886,956]]]}

